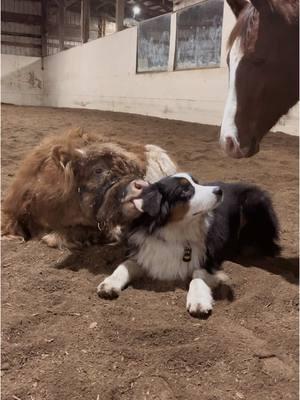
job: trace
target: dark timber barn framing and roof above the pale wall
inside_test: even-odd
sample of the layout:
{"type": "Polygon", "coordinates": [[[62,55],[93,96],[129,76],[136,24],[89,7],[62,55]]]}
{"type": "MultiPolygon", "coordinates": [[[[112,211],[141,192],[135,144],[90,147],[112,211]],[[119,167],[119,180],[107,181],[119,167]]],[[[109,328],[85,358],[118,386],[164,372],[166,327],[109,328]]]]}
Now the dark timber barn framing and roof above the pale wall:
{"type": "MultiPolygon", "coordinates": [[[[126,27],[173,10],[173,0],[123,1],[126,27]],[[140,11],[136,15],[135,6],[140,11]]],[[[116,3],[117,0],[1,0],[1,51],[45,56],[113,33],[116,3]]]]}

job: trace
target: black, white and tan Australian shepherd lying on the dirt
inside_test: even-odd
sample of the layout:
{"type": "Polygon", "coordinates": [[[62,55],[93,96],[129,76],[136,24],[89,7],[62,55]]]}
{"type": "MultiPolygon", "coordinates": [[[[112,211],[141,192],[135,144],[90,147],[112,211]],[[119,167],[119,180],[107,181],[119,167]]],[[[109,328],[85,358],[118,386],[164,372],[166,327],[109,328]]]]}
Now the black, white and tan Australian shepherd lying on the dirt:
{"type": "Polygon", "coordinates": [[[145,185],[132,199],[139,212],[129,234],[129,256],[97,288],[118,297],[143,274],[153,279],[190,280],[186,307],[207,316],[212,288],[227,279],[223,261],[247,251],[279,254],[278,220],[269,195],[242,183],[200,185],[186,173],[145,185]]]}

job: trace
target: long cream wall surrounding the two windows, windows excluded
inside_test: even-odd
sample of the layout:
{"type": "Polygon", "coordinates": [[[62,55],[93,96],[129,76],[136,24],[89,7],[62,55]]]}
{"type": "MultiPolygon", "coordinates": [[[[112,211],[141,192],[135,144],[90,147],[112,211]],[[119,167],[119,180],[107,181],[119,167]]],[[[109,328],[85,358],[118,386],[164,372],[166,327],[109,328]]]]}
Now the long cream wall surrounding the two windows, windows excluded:
{"type": "MultiPolygon", "coordinates": [[[[47,57],[42,103],[220,125],[228,83],[226,41],[234,21],[225,2],[221,68],[136,74],[136,28],[47,57]]],[[[172,24],[175,23],[173,14],[172,24]]],[[[170,61],[174,56],[175,30],[171,32],[170,61]]],[[[34,67],[31,65],[35,70],[34,67]]],[[[29,104],[31,90],[23,89],[30,93],[22,104],[29,104]]],[[[10,91],[10,102],[12,95],[10,91]]],[[[16,96],[20,104],[19,94],[16,96]]],[[[5,93],[4,101],[7,97],[5,93]]],[[[298,107],[274,130],[298,134],[298,107]]]]}

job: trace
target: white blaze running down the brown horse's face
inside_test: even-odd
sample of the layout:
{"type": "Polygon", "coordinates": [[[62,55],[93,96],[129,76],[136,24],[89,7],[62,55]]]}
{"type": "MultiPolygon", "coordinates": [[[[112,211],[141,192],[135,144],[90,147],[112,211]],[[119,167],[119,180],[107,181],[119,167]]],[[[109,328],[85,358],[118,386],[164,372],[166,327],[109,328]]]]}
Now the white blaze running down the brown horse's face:
{"type": "Polygon", "coordinates": [[[234,120],[237,110],[236,70],[242,57],[240,40],[236,39],[229,55],[229,88],[221,125],[220,139],[222,144],[225,144],[226,137],[230,137],[235,142],[238,142],[238,130],[234,120]]]}

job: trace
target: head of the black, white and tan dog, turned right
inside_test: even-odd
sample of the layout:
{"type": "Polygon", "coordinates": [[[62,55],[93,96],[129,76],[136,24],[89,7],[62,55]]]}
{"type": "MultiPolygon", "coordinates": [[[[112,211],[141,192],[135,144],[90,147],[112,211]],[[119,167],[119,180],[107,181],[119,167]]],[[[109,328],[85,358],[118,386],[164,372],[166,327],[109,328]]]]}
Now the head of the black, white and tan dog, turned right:
{"type": "Polygon", "coordinates": [[[190,221],[213,210],[222,199],[218,186],[202,186],[187,173],[175,174],[146,186],[132,202],[141,213],[138,225],[153,231],[167,223],[190,221]]]}

